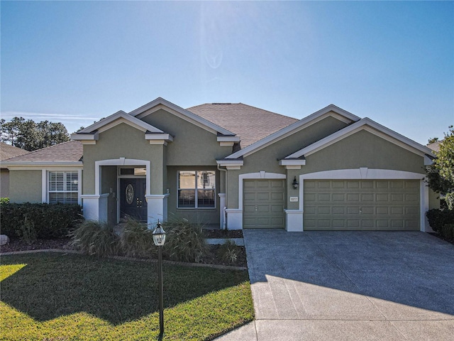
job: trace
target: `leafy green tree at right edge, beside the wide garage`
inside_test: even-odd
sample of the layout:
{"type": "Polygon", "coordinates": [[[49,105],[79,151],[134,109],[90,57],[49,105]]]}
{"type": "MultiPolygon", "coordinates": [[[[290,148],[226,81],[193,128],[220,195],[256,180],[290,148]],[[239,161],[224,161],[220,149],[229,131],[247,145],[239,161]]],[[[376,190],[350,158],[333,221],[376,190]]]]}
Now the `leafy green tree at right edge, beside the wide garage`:
{"type": "Polygon", "coordinates": [[[440,142],[433,165],[427,167],[428,186],[445,196],[449,210],[454,210],[454,128],[449,126],[440,142]]]}

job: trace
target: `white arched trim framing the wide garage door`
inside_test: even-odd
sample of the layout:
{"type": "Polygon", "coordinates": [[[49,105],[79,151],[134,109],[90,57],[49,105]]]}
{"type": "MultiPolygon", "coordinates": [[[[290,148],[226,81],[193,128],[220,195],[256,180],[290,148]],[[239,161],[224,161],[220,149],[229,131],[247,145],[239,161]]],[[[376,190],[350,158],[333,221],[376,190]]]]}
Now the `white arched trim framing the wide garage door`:
{"type": "Polygon", "coordinates": [[[421,173],[394,171],[391,169],[369,169],[366,167],[301,174],[299,175],[299,210],[304,211],[304,180],[419,180],[421,186],[419,228],[421,232],[431,232],[432,229],[426,220],[429,198],[428,187],[424,182],[425,178],[426,175],[421,173]]]}

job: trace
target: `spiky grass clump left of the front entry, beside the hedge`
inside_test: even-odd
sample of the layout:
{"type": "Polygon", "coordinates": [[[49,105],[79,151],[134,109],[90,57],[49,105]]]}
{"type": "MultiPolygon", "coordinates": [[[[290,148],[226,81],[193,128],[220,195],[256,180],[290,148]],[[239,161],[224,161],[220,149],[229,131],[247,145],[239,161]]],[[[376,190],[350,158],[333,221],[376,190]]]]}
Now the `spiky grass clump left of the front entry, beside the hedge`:
{"type": "Polygon", "coordinates": [[[90,256],[116,256],[120,241],[109,222],[85,220],[71,233],[72,245],[90,256]]]}

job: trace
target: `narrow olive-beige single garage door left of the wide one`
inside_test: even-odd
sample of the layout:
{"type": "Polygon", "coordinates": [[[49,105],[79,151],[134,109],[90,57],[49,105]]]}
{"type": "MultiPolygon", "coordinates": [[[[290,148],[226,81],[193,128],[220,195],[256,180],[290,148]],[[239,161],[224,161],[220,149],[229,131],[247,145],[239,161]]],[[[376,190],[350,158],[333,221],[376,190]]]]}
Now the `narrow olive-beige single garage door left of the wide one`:
{"type": "Polygon", "coordinates": [[[284,228],[284,180],[243,181],[243,228],[284,228]]]}

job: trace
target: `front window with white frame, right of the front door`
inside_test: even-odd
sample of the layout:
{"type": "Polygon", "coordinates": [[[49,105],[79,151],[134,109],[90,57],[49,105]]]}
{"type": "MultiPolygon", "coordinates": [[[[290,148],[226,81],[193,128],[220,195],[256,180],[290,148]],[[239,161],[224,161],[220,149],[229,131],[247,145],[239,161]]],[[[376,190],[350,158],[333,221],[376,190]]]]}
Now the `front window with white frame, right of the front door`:
{"type": "Polygon", "coordinates": [[[214,171],[178,172],[178,208],[215,208],[214,171]]]}

